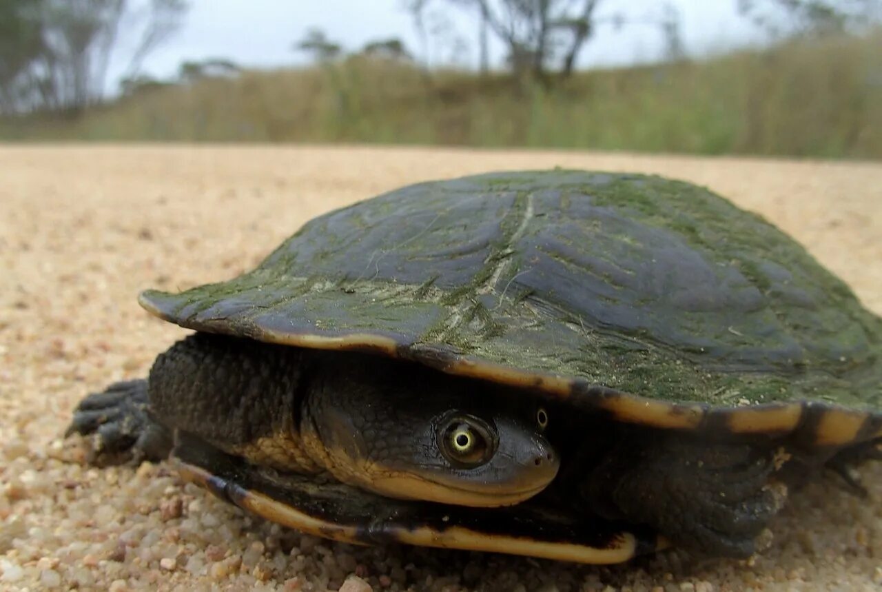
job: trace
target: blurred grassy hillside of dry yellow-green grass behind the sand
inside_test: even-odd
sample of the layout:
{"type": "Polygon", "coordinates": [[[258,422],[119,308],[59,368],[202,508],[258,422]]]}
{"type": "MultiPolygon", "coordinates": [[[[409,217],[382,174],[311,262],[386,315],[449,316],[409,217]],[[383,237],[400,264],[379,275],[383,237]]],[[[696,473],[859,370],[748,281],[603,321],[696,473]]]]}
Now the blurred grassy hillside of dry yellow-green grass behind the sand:
{"type": "Polygon", "coordinates": [[[579,73],[552,90],[501,75],[355,57],[142,92],[76,122],[0,123],[6,139],[558,146],[882,158],[882,32],[579,73]]]}

